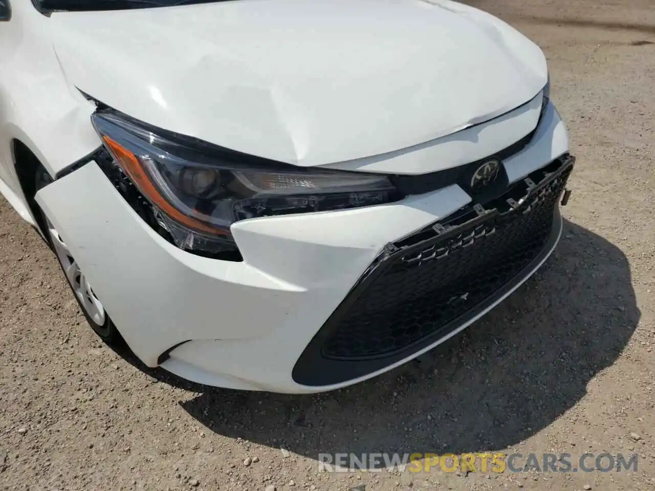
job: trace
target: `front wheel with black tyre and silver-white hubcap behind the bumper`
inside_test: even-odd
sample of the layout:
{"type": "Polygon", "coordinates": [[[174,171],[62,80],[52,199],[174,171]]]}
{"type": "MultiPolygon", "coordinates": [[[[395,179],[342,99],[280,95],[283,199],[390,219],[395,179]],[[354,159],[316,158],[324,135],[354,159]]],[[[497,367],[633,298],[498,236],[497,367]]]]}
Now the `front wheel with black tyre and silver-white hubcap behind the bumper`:
{"type": "MultiPolygon", "coordinates": [[[[39,189],[45,187],[51,182],[52,178],[48,172],[44,168],[39,167],[36,174],[36,191],[39,191],[39,189]]],[[[82,309],[86,321],[96,334],[107,344],[112,346],[122,344],[122,338],[119,331],[107,315],[102,302],[96,296],[93,287],[88,282],[88,278],[84,276],[79,264],[77,264],[77,261],[75,261],[75,258],[71,254],[70,249],[40,207],[39,213],[41,213],[41,217],[39,217],[41,220],[39,220],[39,222],[41,222],[41,227],[45,229],[44,235],[46,240],[50,245],[50,249],[54,252],[57,261],[59,261],[59,265],[62,267],[64,276],[68,285],[71,287],[71,290],[73,290],[75,299],[82,309]]]]}

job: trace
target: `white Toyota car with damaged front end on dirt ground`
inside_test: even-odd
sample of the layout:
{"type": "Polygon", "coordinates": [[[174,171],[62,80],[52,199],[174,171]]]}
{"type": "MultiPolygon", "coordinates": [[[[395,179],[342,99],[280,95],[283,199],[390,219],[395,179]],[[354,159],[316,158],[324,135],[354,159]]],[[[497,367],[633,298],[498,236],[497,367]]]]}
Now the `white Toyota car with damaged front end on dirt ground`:
{"type": "Polygon", "coordinates": [[[447,0],[0,0],[0,191],[91,327],[333,390],[510,295],[574,164],[544,54],[447,0]],[[185,5],[180,5],[180,4],[185,5]]]}

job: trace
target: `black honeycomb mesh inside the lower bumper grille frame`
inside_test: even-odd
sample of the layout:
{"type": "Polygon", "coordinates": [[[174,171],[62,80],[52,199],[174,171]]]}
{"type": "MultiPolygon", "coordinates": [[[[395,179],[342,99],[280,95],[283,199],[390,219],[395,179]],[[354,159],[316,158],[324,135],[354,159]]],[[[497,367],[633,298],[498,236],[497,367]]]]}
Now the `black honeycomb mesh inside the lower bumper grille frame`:
{"type": "Polygon", "coordinates": [[[418,250],[409,247],[397,255],[350,305],[324,342],[322,355],[386,357],[439,335],[544,249],[568,174],[557,176],[508,213],[464,224],[456,236],[437,236],[418,250]]]}

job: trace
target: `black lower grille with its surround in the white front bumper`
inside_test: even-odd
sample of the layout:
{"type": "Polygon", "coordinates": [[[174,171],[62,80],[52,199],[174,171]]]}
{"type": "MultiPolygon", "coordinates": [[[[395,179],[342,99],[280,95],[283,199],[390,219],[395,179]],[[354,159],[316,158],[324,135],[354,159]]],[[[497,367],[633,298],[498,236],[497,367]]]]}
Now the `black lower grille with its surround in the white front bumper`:
{"type": "Polygon", "coordinates": [[[295,382],[325,386],[383,369],[489,308],[557,241],[557,201],[574,160],[557,159],[485,206],[388,244],[310,341],[295,382]]]}

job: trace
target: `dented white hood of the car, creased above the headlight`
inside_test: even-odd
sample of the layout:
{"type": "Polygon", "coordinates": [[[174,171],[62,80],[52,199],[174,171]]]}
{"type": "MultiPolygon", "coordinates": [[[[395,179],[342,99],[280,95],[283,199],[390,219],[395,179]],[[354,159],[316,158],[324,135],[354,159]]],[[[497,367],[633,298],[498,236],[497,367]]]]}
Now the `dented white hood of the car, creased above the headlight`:
{"type": "Polygon", "coordinates": [[[534,98],[541,50],[448,1],[240,0],[52,14],[67,81],[149,124],[301,166],[396,151],[534,98]]]}

